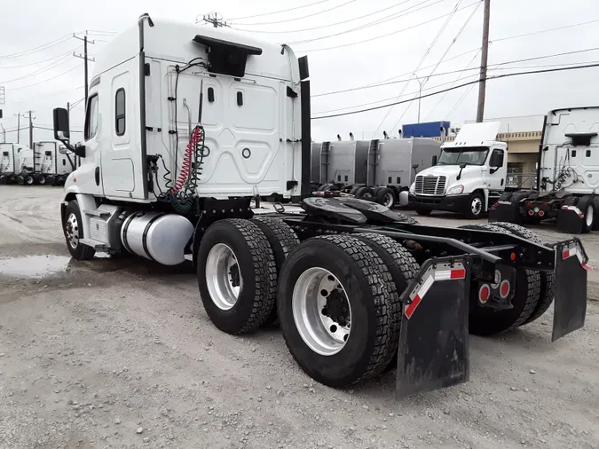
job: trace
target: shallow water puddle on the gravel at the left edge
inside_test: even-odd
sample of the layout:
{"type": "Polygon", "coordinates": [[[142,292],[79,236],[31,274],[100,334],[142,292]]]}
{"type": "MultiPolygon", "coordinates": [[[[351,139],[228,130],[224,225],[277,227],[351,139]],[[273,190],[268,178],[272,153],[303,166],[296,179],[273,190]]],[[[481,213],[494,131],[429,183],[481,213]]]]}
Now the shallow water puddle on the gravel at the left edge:
{"type": "Polygon", "coordinates": [[[67,256],[23,256],[0,259],[0,276],[39,279],[51,274],[67,272],[67,256]]]}

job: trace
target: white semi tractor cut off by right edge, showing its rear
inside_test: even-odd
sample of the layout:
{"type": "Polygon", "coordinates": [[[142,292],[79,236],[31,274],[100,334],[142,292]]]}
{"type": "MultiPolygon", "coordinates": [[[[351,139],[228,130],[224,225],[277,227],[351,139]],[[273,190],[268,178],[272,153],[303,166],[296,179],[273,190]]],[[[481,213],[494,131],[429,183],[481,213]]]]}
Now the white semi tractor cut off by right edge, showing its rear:
{"type": "Polygon", "coordinates": [[[538,225],[556,219],[562,232],[598,231],[598,133],[599,106],[549,112],[539,146],[536,190],[503,193],[489,221],[538,225]]]}

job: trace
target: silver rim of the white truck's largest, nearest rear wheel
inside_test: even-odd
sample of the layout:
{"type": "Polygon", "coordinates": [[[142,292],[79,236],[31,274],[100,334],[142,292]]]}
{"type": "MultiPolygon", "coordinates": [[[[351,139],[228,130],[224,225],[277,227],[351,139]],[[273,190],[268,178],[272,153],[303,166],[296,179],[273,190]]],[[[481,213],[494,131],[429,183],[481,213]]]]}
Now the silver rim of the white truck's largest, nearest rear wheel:
{"type": "Polygon", "coordinates": [[[332,272],[313,267],[296,280],[293,318],[303,342],[322,356],[343,350],[351,334],[351,304],[332,272]]]}

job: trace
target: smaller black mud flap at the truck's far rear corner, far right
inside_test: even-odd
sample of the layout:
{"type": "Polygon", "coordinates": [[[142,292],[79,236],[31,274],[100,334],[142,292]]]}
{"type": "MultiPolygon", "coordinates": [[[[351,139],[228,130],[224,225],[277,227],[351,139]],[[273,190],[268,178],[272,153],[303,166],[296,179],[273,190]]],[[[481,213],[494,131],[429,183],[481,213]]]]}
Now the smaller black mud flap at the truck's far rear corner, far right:
{"type": "Polygon", "coordinates": [[[588,257],[579,239],[556,243],[556,303],[551,341],[585,325],[588,257]]]}

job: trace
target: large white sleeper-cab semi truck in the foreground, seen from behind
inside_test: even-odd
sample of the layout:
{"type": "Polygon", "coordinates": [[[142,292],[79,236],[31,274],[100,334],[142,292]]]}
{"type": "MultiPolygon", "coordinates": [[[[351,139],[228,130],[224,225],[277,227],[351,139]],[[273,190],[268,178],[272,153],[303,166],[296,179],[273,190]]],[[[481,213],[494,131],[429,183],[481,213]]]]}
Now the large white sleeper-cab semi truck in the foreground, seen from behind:
{"type": "Polygon", "coordinates": [[[216,327],[279,319],[299,366],[334,387],[393,367],[400,395],[466,382],[469,332],[525,325],[554,298],[554,340],[584,325],[579,240],[401,223],[371,201],[310,197],[308,63],[288,45],[143,14],[94,68],[82,143],[54,110],[55,137],[82,161],[60,205],[76,259],[190,259],[216,327]],[[304,212],[255,216],[251,199],[272,194],[304,212]]]}

